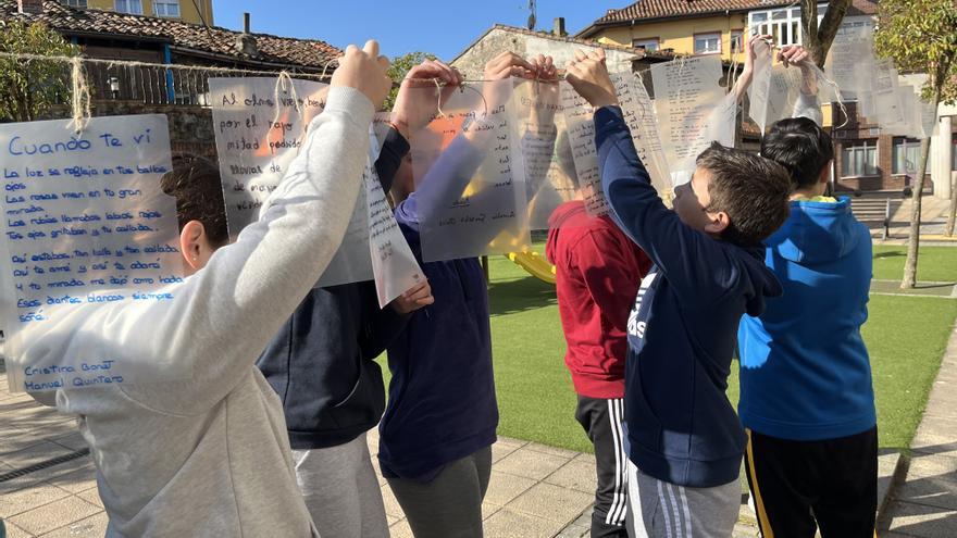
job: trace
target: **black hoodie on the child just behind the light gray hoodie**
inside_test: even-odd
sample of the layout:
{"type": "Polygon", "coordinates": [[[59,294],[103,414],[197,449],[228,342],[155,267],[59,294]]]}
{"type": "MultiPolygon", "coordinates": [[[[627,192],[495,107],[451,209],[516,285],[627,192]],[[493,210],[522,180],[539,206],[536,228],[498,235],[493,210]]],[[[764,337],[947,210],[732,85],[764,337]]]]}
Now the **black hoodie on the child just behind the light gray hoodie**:
{"type": "MultiPolygon", "coordinates": [[[[390,129],[375,162],[386,192],[408,152],[409,142],[390,129]]],[[[385,384],[374,359],[407,317],[378,308],[371,280],[309,292],[257,363],[283,400],[293,449],[336,447],[375,427],[385,384]]]]}

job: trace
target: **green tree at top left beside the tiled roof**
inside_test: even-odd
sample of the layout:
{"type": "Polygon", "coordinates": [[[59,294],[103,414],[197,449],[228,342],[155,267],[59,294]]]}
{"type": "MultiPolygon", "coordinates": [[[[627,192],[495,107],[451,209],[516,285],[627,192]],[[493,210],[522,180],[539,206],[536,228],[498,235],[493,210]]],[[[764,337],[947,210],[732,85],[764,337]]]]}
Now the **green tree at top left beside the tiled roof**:
{"type": "MultiPolygon", "coordinates": [[[[77,49],[40,23],[0,21],[0,52],[73,57],[77,49]]],[[[69,95],[69,65],[0,57],[0,121],[32,122],[69,95]]]]}

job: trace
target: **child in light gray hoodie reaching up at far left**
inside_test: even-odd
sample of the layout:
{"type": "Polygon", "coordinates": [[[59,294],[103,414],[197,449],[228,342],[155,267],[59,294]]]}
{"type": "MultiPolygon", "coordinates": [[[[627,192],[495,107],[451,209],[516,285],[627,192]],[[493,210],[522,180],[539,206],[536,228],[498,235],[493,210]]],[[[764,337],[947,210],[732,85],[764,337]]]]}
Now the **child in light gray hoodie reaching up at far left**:
{"type": "Polygon", "coordinates": [[[89,443],[108,537],[318,536],[279,399],[254,362],[343,240],[387,66],[375,41],[346,49],[260,220],[220,249],[202,222],[183,227],[190,276],[166,288],[174,299],[75,309],[24,339],[24,364],[96,352],[185,374],[55,393],[89,443]]]}

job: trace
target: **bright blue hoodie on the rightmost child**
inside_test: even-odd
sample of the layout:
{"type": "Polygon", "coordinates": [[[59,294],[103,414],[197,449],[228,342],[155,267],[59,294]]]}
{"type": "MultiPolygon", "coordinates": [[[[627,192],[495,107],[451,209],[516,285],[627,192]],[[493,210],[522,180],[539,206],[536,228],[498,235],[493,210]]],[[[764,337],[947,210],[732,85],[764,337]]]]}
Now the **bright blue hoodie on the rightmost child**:
{"type": "Polygon", "coordinates": [[[741,422],[799,441],[874,427],[860,336],[873,272],[868,227],[854,217],[848,198],[793,201],[790,218],[767,243],[765,263],[784,297],[768,301],[760,317],[741,320],[741,422]]]}

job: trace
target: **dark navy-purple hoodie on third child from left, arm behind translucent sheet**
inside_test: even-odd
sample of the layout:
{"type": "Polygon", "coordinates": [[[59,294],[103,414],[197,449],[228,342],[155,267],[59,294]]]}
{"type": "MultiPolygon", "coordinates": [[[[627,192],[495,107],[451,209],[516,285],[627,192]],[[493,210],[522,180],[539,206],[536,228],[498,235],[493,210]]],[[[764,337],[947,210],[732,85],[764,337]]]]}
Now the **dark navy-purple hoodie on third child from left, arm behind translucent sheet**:
{"type": "Polygon", "coordinates": [[[457,138],[396,221],[428,278],[435,303],[409,320],[388,347],[388,409],[380,423],[383,475],[431,481],[456,460],[495,442],[498,405],[485,275],[475,258],[422,261],[421,223],[448,189],[461,191],[484,154],[457,138]]]}

